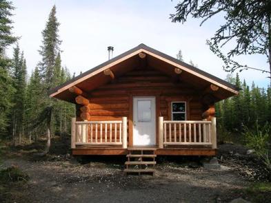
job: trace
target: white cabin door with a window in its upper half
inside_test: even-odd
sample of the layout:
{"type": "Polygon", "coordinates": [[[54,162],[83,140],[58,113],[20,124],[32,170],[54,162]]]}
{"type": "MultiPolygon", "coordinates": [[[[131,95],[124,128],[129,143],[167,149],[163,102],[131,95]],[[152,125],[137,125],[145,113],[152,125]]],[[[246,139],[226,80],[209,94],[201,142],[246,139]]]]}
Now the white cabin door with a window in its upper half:
{"type": "Polygon", "coordinates": [[[155,97],[134,97],[133,111],[133,145],[156,145],[155,97]]]}

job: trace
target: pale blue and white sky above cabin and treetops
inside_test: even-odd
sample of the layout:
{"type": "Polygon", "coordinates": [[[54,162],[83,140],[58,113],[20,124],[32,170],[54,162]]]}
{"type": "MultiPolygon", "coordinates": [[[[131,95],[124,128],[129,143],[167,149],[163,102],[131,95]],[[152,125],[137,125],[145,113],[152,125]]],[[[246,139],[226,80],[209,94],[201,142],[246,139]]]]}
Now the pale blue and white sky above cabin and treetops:
{"type": "MultiPolygon", "coordinates": [[[[52,6],[57,6],[57,19],[61,43],[62,65],[73,74],[86,72],[108,60],[108,46],[114,47],[117,56],[140,43],[176,57],[181,50],[183,60],[197,64],[201,70],[225,79],[223,63],[206,45],[214,32],[222,25],[223,18],[211,19],[199,26],[199,19],[188,19],[184,24],[172,23],[177,1],[90,1],[90,0],[14,0],[14,35],[20,36],[31,73],[41,60],[39,47],[52,6]]],[[[8,50],[12,56],[12,47],[8,50]]],[[[252,67],[268,70],[263,56],[241,56],[239,60],[252,67]]],[[[234,73],[235,74],[235,73],[234,73]]],[[[268,74],[252,70],[239,73],[248,84],[259,87],[270,83],[268,74]]]]}

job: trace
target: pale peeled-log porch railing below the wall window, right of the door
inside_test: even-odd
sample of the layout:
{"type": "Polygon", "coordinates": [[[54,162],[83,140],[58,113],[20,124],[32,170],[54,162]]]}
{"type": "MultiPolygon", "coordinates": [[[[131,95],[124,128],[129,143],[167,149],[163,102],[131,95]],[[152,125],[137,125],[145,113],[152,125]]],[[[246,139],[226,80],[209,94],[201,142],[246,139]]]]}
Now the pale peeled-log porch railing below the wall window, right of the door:
{"type": "Polygon", "coordinates": [[[159,117],[159,148],[166,145],[211,145],[216,149],[216,118],[178,121],[159,117]]]}

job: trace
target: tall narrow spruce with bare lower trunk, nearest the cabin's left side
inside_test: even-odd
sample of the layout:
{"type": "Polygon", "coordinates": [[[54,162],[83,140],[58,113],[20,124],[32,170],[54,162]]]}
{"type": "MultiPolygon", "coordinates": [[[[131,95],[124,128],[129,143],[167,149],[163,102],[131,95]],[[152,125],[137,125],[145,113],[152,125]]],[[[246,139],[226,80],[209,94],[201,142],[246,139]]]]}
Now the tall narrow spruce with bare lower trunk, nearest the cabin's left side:
{"type": "Polygon", "coordinates": [[[50,138],[52,136],[55,101],[48,98],[49,89],[54,87],[57,76],[55,75],[55,65],[57,55],[60,52],[61,40],[59,39],[59,22],[56,16],[56,7],[53,6],[49,14],[46,28],[42,32],[43,40],[41,45],[41,61],[39,63],[39,72],[41,75],[41,84],[43,87],[43,111],[39,115],[39,120],[46,121],[47,144],[44,153],[50,149],[50,138]]]}

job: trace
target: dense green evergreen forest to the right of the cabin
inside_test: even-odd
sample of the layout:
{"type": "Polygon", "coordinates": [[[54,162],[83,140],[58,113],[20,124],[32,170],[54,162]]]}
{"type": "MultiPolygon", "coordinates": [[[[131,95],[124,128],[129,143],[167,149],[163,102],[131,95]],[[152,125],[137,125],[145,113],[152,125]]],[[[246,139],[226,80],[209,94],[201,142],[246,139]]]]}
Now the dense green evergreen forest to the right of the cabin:
{"type": "Polygon", "coordinates": [[[239,80],[228,76],[228,81],[234,81],[241,88],[239,95],[225,99],[215,105],[216,116],[220,129],[230,132],[242,132],[244,128],[252,129],[258,123],[263,127],[266,122],[271,123],[271,88],[259,88],[252,83],[251,89],[239,80]]]}

